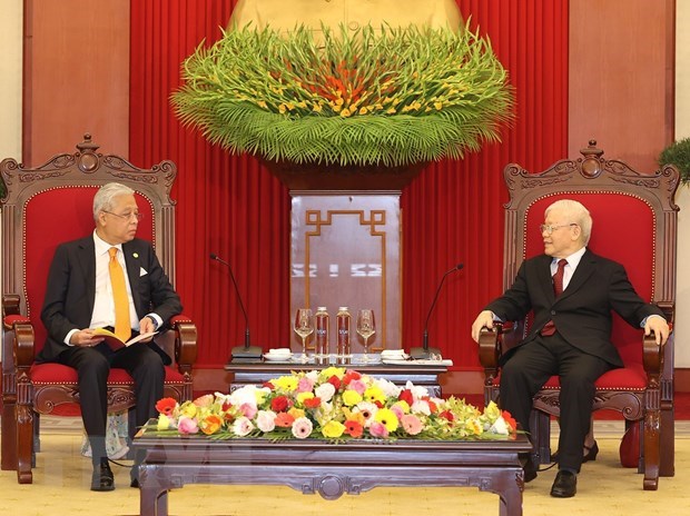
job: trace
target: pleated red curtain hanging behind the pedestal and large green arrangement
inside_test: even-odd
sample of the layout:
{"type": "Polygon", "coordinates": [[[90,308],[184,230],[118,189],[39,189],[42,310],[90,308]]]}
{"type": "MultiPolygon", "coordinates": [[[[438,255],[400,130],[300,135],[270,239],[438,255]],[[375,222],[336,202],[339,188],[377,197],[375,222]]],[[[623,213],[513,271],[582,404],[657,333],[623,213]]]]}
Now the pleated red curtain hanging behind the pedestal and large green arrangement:
{"type": "MultiPolygon", "coordinates": [[[[199,328],[199,367],[221,367],[241,344],[245,322],[228,270],[234,268],[253,344],[288,343],[289,198],[247,156],[228,156],[183,128],[169,96],[179,67],[203,39],[220,36],[231,0],[131,2],[130,159],[179,169],[177,282],[185,312],[199,328]]],[[[503,142],[461,161],[430,166],[403,192],[403,345],[418,345],[442,275],[447,278],[430,320],[430,340],[460,369],[476,368],[470,338],[475,314],[501,291],[502,170],[520,162],[541,170],[565,157],[568,0],[459,0],[465,18],[491,38],[515,87],[516,119],[503,142]]]]}

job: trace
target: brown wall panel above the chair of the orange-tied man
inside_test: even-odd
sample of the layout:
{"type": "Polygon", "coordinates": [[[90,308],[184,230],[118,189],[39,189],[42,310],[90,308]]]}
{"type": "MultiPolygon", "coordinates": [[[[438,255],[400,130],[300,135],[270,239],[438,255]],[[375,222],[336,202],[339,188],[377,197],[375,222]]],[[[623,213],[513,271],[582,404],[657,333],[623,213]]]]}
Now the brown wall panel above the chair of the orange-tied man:
{"type": "Polygon", "coordinates": [[[129,155],[129,0],[24,0],[23,70],[24,165],[85,132],[129,155]]]}

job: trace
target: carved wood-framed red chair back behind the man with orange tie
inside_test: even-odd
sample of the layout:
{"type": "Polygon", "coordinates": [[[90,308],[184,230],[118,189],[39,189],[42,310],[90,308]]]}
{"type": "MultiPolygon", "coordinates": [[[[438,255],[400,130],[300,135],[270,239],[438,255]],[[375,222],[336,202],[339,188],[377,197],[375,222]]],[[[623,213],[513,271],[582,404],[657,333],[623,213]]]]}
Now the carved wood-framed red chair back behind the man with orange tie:
{"type": "Polygon", "coordinates": [[[119,156],[99,153],[85,135],[75,153],[58,155],[36,168],[6,159],[0,172],[9,187],[2,199],[3,296],[19,296],[20,312],[33,326],[36,353],[46,341],[40,315],[56,247],[93,231],[93,195],[102,185],[121,182],[135,190],[144,214],[137,236],[152,242],[175,282],[175,206],[169,195],[177,168],[171,161],[141,169],[119,156]]]}

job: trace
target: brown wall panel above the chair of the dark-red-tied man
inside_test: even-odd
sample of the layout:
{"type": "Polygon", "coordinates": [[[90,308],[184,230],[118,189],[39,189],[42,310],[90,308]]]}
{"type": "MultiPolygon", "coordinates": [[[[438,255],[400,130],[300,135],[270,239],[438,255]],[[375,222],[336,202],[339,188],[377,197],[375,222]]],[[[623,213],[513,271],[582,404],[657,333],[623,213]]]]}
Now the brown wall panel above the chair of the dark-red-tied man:
{"type": "Polygon", "coordinates": [[[673,138],[674,0],[570,2],[569,157],[594,138],[655,170],[673,138]]]}

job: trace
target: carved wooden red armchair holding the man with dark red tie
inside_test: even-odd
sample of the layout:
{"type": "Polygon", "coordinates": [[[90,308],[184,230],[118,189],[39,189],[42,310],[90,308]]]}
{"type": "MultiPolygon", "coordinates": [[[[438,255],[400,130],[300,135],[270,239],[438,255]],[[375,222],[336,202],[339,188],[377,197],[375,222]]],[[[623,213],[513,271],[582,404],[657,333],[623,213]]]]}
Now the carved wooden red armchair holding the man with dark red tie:
{"type": "MultiPolygon", "coordinates": [[[[592,215],[588,247],[623,264],[638,294],[655,302],[672,322],[678,170],[668,166],[640,173],[622,161],[604,159],[595,145],[591,141],[581,158],[559,161],[540,173],[518,165],[505,168],[510,202],[505,207],[504,288],[512,285],[522,260],[543,252],[538,228],[545,208],[571,198],[592,215]]],[[[530,316],[495,331],[482,331],[480,361],[487,403],[499,398],[501,353],[523,338],[529,326],[530,316]]],[[[592,409],[614,409],[622,414],[627,428],[639,425],[638,472],[644,473],[644,489],[657,489],[659,476],[673,476],[673,334],[666,346],[657,346],[653,338],[644,338],[641,329],[614,314],[611,339],[624,367],[597,381],[592,409]]],[[[534,398],[530,421],[534,464],[550,462],[550,416],[559,414],[559,379],[552,377],[534,398]]]]}

